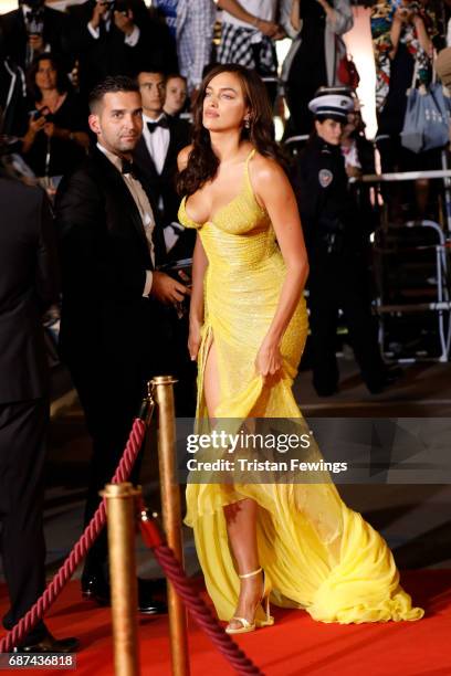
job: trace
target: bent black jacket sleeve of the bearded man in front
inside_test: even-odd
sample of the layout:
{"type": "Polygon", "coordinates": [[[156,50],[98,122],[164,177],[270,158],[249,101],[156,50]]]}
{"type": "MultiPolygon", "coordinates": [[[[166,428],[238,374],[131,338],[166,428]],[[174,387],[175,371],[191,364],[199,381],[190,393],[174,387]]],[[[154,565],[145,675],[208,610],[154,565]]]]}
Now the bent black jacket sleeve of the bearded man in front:
{"type": "Polygon", "coordinates": [[[108,234],[105,201],[94,178],[77,171],[63,179],[55,209],[63,292],[141,296],[146,272],[136,265],[129,243],[108,234]]]}

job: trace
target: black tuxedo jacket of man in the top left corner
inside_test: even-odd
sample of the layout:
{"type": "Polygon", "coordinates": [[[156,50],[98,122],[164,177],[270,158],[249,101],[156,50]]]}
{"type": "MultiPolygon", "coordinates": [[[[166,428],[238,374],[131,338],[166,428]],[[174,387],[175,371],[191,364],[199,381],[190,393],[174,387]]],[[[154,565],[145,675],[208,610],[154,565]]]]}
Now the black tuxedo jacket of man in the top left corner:
{"type": "MultiPolygon", "coordinates": [[[[19,66],[27,68],[28,34],[22,9],[0,17],[0,32],[3,33],[4,53],[19,66]]],[[[52,53],[62,57],[67,72],[73,66],[69,36],[70,20],[67,15],[44,7],[44,44],[49,44],[52,53]]]]}

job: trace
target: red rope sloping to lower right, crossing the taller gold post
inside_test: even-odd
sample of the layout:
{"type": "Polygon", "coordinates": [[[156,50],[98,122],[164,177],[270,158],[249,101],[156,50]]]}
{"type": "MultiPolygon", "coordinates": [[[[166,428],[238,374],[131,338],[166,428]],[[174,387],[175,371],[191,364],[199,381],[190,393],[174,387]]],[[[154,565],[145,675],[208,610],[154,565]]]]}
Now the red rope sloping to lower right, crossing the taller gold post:
{"type": "Polygon", "coordinates": [[[176,556],[167,545],[164,545],[155,522],[141,520],[141,535],[145,543],[153,549],[155,558],[161,566],[166,577],[172,583],[178,595],[195,617],[196,622],[211,638],[218,651],[224,655],[239,674],[264,676],[254,663],[243,653],[229,634],[213,616],[208,605],[199,596],[193,583],[187,578],[176,556]]]}

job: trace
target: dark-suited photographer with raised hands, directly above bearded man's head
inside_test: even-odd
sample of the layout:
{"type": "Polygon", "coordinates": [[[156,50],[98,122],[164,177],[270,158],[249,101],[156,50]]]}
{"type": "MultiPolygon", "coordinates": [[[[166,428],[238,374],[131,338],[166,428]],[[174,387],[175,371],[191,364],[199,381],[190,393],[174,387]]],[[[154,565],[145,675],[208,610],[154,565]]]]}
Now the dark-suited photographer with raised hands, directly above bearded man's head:
{"type": "Polygon", "coordinates": [[[148,13],[141,0],[87,0],[69,11],[83,96],[107,75],[137,74],[144,50],[154,49],[145,36],[148,13]]]}

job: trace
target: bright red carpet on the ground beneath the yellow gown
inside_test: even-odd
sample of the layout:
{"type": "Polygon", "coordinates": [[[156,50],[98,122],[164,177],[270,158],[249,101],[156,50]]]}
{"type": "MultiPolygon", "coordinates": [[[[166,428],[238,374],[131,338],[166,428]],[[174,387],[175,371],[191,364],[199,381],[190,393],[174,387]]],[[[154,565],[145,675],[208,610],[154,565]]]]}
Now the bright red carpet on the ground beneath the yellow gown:
{"type": "MultiPolygon", "coordinates": [[[[273,627],[243,635],[239,643],[268,676],[450,676],[451,570],[409,571],[402,584],[426,609],[423,620],[340,626],[314,622],[302,611],[274,609],[273,627]]],[[[4,612],[4,587],[0,606],[4,612]]],[[[109,609],[83,601],[77,582],[64,590],[48,624],[56,636],[81,640],[77,676],[114,674],[109,609]]],[[[139,636],[141,674],[170,676],[167,617],[141,616],[139,636]]],[[[234,674],[193,623],[189,642],[192,676],[234,674]]]]}

